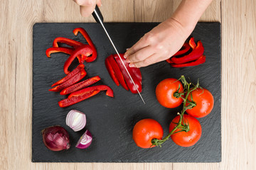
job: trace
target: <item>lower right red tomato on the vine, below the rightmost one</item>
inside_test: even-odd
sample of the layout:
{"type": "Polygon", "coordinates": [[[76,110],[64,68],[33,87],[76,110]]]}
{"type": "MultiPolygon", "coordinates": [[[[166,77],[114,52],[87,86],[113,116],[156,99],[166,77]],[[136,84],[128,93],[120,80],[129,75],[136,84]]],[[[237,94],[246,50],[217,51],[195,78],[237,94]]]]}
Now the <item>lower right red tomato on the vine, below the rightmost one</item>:
{"type": "MultiPolygon", "coordinates": [[[[174,120],[172,120],[169,126],[169,132],[171,132],[171,130],[173,130],[176,127],[175,123],[178,123],[179,119],[180,119],[180,116],[177,115],[174,118],[174,120]]],[[[185,123],[188,123],[189,131],[178,132],[180,131],[180,129],[177,129],[174,131],[177,133],[174,133],[173,135],[171,135],[171,140],[173,140],[174,143],[176,143],[176,145],[179,145],[181,147],[191,147],[195,145],[196,142],[198,142],[198,140],[200,139],[202,134],[202,128],[199,121],[191,115],[183,115],[183,121],[185,123]]],[[[184,124],[182,123],[182,125],[184,124]]]]}

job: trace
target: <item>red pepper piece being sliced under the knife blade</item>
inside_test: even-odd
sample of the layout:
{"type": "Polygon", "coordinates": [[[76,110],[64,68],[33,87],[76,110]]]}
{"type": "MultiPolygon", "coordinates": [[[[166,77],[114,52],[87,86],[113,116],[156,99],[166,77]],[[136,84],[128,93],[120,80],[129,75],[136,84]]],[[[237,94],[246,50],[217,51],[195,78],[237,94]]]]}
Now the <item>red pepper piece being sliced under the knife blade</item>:
{"type": "Polygon", "coordinates": [[[124,54],[119,55],[122,60],[119,59],[118,55],[110,55],[105,60],[107,71],[109,72],[110,77],[113,79],[115,84],[117,84],[117,86],[121,84],[124,89],[129,89],[130,91],[132,91],[133,94],[138,93],[137,89],[139,90],[139,92],[142,92],[142,73],[140,72],[140,69],[135,67],[129,67],[129,63],[127,63],[124,59],[124,54]],[[122,62],[124,62],[124,65],[127,68],[130,76],[134,80],[137,89],[132,83],[132,80],[130,79],[129,74],[127,74],[127,71],[124,68],[122,62]]]}

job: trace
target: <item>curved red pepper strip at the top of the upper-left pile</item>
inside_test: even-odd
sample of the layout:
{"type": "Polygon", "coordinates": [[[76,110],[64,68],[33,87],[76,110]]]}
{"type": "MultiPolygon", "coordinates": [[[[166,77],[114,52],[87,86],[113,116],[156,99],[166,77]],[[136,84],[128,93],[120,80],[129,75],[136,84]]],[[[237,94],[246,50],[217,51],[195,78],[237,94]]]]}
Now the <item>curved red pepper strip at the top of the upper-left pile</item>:
{"type": "Polygon", "coordinates": [[[81,33],[82,36],[85,38],[85,40],[90,45],[90,47],[92,47],[92,56],[91,57],[88,57],[88,56],[85,57],[85,62],[93,62],[93,61],[95,61],[96,58],[97,58],[97,50],[95,48],[95,45],[92,43],[92,40],[91,40],[90,36],[85,31],[85,29],[84,28],[75,28],[75,30],[73,30],[73,33],[75,34],[75,36],[77,36],[78,33],[81,33]]]}

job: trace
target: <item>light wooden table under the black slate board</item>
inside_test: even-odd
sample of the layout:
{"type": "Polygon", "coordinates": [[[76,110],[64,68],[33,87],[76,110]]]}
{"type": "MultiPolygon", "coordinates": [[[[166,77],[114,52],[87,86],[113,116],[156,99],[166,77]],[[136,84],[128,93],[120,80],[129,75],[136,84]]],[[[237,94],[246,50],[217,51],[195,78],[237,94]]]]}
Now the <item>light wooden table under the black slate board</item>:
{"type": "MultiPolygon", "coordinates": [[[[105,0],[107,22],[161,22],[180,1],[105,0]]],[[[32,163],[32,30],[38,22],[95,22],[71,0],[0,1],[0,169],[256,169],[256,2],[215,0],[201,21],[222,23],[222,162],[32,163]]]]}

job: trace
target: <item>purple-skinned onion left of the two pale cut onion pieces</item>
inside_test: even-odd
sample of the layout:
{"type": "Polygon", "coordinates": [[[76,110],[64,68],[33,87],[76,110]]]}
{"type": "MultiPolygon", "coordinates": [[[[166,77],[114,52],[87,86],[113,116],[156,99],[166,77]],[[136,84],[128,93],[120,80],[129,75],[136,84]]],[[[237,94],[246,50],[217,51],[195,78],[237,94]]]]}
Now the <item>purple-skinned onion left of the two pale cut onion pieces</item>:
{"type": "Polygon", "coordinates": [[[61,151],[70,148],[67,130],[59,125],[50,126],[42,130],[43,143],[52,151],[61,151]]]}

